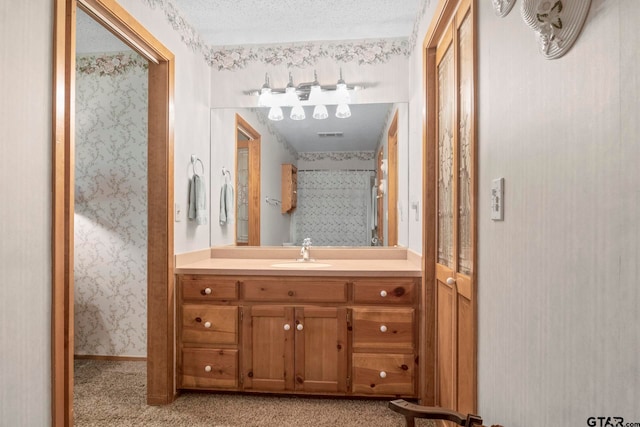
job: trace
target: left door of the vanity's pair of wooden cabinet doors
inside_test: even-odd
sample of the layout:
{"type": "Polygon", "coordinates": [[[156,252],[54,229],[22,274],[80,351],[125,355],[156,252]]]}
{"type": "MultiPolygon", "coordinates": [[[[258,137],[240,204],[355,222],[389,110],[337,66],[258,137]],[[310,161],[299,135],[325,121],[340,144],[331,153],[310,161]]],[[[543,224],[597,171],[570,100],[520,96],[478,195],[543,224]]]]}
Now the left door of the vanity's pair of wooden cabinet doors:
{"type": "MultiPolygon", "coordinates": [[[[248,312],[248,313],[247,313],[248,312]]],[[[293,307],[253,306],[243,320],[244,388],[293,389],[293,307]],[[247,315],[248,314],[248,315],[247,315]]]]}

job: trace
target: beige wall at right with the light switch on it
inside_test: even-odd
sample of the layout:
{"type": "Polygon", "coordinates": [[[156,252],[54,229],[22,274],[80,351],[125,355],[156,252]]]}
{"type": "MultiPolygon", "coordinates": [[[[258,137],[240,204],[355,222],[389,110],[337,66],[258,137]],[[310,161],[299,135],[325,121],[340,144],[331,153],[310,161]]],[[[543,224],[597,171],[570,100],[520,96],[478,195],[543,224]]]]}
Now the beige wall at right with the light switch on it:
{"type": "Polygon", "coordinates": [[[593,0],[545,60],[519,4],[479,1],[479,412],[640,421],[640,2],[593,0]],[[489,216],[505,179],[505,220],[489,216]]]}

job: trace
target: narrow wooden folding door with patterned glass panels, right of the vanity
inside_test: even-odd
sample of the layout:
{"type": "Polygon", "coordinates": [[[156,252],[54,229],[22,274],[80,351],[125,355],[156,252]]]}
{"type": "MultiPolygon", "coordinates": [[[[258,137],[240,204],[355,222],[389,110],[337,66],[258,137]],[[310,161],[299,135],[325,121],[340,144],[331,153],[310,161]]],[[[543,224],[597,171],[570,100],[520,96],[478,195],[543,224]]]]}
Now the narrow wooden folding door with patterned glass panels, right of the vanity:
{"type": "Polygon", "coordinates": [[[476,410],[474,25],[458,3],[435,49],[436,398],[476,410]]]}

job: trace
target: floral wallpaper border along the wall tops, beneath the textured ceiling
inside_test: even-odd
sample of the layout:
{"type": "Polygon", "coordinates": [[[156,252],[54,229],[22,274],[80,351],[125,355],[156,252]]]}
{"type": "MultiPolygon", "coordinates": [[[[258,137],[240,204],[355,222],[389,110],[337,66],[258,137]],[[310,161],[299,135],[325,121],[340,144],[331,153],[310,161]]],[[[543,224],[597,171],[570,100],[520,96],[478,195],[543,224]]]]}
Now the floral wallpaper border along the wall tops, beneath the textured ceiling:
{"type": "Polygon", "coordinates": [[[198,32],[182,16],[171,0],[142,0],[152,9],[161,8],[167,21],[180,34],[182,41],[194,52],[201,52],[207,63],[218,70],[240,70],[251,62],[281,65],[287,67],[307,67],[315,65],[321,58],[332,58],[336,62],[358,64],[381,64],[392,56],[408,57],[418,42],[418,30],[422,17],[432,0],[422,0],[420,13],[416,18],[409,39],[380,39],[344,41],[338,43],[296,43],[292,45],[208,46],[198,32]]]}

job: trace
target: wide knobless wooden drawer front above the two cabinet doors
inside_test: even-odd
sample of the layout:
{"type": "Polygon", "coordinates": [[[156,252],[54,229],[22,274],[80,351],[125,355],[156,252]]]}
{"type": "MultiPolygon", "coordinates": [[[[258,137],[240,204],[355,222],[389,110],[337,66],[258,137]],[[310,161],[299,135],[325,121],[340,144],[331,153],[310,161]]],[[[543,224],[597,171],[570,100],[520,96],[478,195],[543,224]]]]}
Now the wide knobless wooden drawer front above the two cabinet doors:
{"type": "Polygon", "coordinates": [[[347,283],[341,279],[264,278],[243,281],[245,301],[346,302],[347,283]]]}

